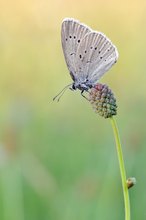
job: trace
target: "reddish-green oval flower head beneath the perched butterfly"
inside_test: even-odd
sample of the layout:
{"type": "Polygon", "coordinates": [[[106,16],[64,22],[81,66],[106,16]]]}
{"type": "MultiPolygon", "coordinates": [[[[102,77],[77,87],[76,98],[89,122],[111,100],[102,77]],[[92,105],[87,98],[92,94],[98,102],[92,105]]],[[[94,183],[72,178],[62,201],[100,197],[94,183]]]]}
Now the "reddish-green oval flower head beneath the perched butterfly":
{"type": "Polygon", "coordinates": [[[104,118],[117,114],[116,99],[107,85],[97,83],[89,93],[89,101],[95,112],[104,118]]]}

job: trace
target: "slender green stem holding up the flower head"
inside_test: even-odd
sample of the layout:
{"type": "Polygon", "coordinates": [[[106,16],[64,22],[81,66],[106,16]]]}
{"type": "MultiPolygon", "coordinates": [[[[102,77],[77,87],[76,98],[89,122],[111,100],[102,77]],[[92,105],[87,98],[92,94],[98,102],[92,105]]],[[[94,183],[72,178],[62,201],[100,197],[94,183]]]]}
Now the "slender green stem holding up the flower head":
{"type": "Polygon", "coordinates": [[[115,136],[115,142],[116,142],[116,148],[117,148],[117,154],[118,154],[118,160],[119,160],[119,166],[120,166],[120,173],[121,173],[121,179],[122,179],[124,204],[125,204],[125,220],[130,220],[130,201],[129,201],[128,187],[126,183],[126,171],[125,171],[125,166],[124,166],[122,147],[121,147],[116,120],[113,117],[111,117],[110,119],[111,119],[111,124],[113,128],[114,136],[115,136]]]}

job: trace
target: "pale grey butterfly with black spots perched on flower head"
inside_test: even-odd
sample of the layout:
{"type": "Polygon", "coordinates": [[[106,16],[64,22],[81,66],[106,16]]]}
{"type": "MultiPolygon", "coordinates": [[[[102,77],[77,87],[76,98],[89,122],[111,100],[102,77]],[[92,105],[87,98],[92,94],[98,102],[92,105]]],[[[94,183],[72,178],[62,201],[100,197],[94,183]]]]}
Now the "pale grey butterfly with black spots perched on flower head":
{"type": "MultiPolygon", "coordinates": [[[[103,33],[94,31],[73,18],[63,20],[61,42],[73,80],[70,89],[79,89],[81,94],[94,87],[118,60],[116,46],[103,33]]],[[[60,93],[64,93],[69,86],[67,85],[60,93]]]]}

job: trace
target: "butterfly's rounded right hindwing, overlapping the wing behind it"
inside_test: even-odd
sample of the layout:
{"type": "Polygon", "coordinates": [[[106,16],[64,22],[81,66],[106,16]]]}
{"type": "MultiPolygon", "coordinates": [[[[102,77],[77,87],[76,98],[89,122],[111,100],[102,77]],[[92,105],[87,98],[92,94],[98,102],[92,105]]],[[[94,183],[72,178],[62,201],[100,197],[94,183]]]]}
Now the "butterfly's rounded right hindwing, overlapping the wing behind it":
{"type": "Polygon", "coordinates": [[[102,33],[92,31],[85,35],[76,52],[76,71],[80,82],[95,84],[117,62],[118,51],[102,33]]]}

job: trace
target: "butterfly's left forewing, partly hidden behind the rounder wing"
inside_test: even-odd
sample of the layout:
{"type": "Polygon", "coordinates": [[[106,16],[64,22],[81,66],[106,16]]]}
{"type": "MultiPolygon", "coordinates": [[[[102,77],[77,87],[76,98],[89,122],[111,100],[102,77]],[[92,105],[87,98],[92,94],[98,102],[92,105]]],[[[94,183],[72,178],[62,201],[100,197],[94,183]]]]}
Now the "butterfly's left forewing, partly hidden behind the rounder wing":
{"type": "Polygon", "coordinates": [[[67,67],[74,81],[77,78],[77,66],[75,63],[77,48],[83,37],[89,32],[91,32],[91,29],[77,20],[66,18],[62,22],[61,40],[63,53],[67,67]]]}

